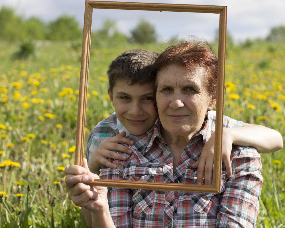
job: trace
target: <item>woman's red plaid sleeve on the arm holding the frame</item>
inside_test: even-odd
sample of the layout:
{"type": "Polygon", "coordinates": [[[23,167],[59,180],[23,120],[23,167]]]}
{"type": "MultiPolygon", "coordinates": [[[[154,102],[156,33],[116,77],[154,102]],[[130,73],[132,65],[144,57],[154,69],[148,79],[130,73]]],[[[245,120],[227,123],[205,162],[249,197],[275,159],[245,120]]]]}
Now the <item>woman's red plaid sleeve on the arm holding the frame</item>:
{"type": "MultiPolygon", "coordinates": [[[[100,178],[123,180],[123,169],[127,161],[118,162],[117,169],[110,169],[104,167],[100,170],[100,178]]],[[[111,217],[118,228],[132,228],[133,227],[133,190],[126,188],[108,188],[108,202],[111,217]]]]}

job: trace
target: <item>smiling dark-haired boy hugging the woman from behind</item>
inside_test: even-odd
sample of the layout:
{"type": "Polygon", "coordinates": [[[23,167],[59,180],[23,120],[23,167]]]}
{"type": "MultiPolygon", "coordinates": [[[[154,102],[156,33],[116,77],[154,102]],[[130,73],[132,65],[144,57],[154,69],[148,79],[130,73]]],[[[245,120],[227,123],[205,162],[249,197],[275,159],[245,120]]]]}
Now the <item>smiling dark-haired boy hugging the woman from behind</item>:
{"type": "MultiPolygon", "coordinates": [[[[129,50],[118,56],[109,66],[107,71],[109,77],[108,94],[115,108],[115,113],[99,122],[89,135],[86,158],[91,172],[99,174],[101,164],[115,169],[117,166],[109,162],[107,158],[126,160],[127,157],[113,151],[132,153],[127,147],[119,144],[132,145],[134,143],[125,136],[130,134],[141,135],[154,125],[158,114],[153,105],[155,75],[152,63],[157,57],[156,52],[139,49],[129,50]]],[[[208,114],[215,116],[214,111],[210,111],[208,114]]],[[[227,167],[228,176],[231,176],[229,158],[233,143],[257,147],[259,152],[266,153],[281,149],[283,146],[282,136],[275,130],[245,124],[227,116],[223,118],[223,125],[232,128],[243,126],[243,128],[233,128],[233,133],[228,134],[227,139],[223,137],[222,159],[227,167]],[[266,134],[262,134],[264,131],[266,134]],[[262,137],[263,135],[266,135],[267,138],[262,137]],[[268,139],[268,135],[270,135],[270,139],[268,139]],[[280,142],[278,148],[271,146],[276,145],[276,141],[280,142]]],[[[214,136],[211,137],[211,140],[214,140],[214,136]]],[[[198,168],[199,164],[201,172],[198,174],[198,179],[200,178],[202,181],[204,170],[207,167],[213,167],[213,145],[213,143],[205,145],[199,162],[194,164],[195,167],[193,166],[198,168]]],[[[205,172],[205,183],[211,180],[211,173],[212,169],[205,172]]],[[[87,225],[90,226],[90,212],[85,208],[82,208],[82,212],[87,225]]]]}

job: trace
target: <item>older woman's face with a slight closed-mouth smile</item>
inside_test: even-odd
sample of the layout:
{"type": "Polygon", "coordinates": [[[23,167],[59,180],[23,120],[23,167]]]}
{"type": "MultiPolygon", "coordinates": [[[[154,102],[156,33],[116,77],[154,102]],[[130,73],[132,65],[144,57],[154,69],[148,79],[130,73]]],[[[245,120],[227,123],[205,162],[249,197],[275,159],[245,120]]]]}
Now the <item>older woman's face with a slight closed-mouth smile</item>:
{"type": "Polygon", "coordinates": [[[204,85],[205,73],[203,68],[190,73],[175,64],[158,72],[156,102],[166,133],[190,139],[201,130],[207,110],[216,103],[204,85]]]}

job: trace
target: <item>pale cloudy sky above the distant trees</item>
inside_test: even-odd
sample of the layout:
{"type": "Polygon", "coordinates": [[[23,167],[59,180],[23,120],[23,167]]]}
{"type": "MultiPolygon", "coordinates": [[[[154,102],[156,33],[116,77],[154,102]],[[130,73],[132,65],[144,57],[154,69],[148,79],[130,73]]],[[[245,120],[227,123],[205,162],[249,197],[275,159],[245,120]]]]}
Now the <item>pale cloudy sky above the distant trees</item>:
{"type": "MultiPolygon", "coordinates": [[[[227,6],[227,30],[235,41],[265,38],[270,28],[285,25],[284,0],[125,1],[227,6]]],[[[3,5],[14,8],[17,15],[24,18],[35,16],[45,22],[55,20],[64,14],[71,15],[83,27],[84,0],[0,0],[0,8],[3,5]]],[[[154,24],[158,36],[165,40],[177,35],[195,35],[211,41],[219,24],[218,14],[93,9],[93,30],[101,28],[103,20],[107,18],[116,20],[117,27],[125,34],[129,34],[138,21],[144,18],[154,24]]]]}

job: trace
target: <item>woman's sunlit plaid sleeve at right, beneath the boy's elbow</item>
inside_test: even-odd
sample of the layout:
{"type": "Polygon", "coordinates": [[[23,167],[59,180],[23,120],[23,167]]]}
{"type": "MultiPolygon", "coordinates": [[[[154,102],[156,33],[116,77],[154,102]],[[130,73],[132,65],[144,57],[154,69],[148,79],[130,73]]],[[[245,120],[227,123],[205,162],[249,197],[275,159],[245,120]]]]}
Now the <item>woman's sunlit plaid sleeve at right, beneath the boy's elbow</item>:
{"type": "Polygon", "coordinates": [[[263,181],[260,155],[252,147],[233,148],[233,175],[222,185],[216,227],[254,228],[263,181]]]}

